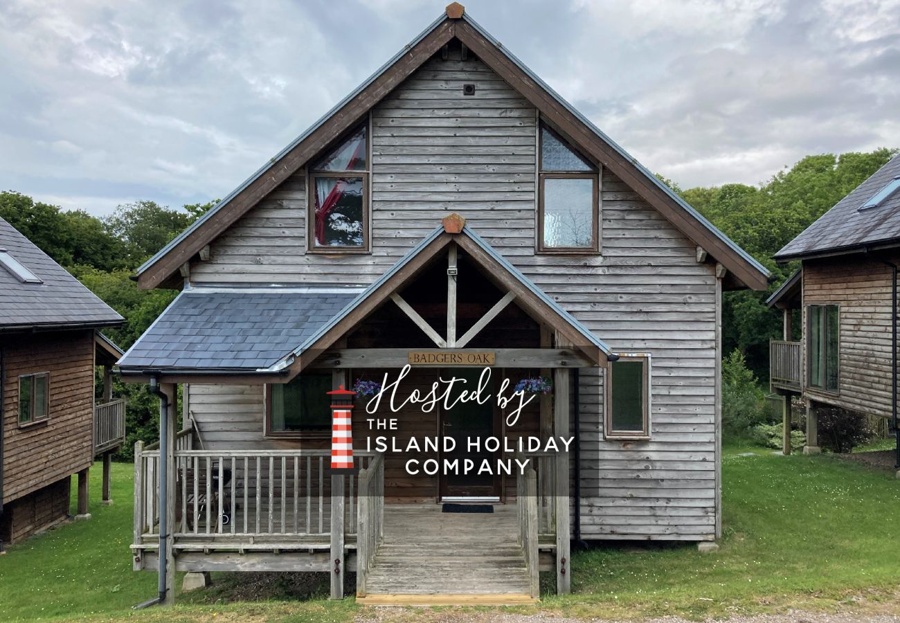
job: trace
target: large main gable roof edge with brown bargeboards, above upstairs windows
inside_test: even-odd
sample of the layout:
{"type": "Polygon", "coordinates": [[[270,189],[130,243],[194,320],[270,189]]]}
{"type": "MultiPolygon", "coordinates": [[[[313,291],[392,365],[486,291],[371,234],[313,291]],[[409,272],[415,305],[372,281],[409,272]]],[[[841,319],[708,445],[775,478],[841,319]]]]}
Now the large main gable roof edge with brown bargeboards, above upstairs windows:
{"type": "Polygon", "coordinates": [[[734,275],[738,285],[757,290],[767,287],[769,271],[764,266],[672,192],[625,149],[599,131],[468,14],[463,12],[461,17],[456,17],[462,7],[454,5],[448,6],[446,15],[429,25],[265,167],[257,170],[191,227],[150,257],[138,269],[139,285],[153,288],[170,280],[179,266],[189,261],[321,149],[337,140],[444,44],[456,38],[533,104],[548,122],[567,134],[581,150],[596,158],[689,239],[716,257],[734,275]]]}

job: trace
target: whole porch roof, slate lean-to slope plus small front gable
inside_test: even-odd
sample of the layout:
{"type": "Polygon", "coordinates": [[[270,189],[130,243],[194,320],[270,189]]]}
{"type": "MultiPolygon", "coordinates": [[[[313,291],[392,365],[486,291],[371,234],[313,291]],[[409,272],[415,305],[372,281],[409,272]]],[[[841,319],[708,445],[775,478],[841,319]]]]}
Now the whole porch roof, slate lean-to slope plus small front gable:
{"type": "MultiPolygon", "coordinates": [[[[450,217],[453,218],[453,217],[450,217]]],[[[459,217],[456,217],[459,218],[459,217]]],[[[460,219],[461,221],[461,219],[460,219]]],[[[616,359],[590,329],[563,310],[472,228],[438,226],[365,290],[347,287],[190,288],[179,293],[119,361],[125,376],[207,375],[292,378],[332,347],[451,243],[527,312],[592,363],[616,359]]]]}

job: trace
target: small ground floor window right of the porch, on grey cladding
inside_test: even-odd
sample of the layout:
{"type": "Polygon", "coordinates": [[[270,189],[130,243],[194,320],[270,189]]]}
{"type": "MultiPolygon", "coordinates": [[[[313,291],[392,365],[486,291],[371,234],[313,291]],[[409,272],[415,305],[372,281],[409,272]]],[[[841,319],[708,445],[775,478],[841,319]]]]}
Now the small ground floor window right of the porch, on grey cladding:
{"type": "Polygon", "coordinates": [[[650,437],[650,356],[620,354],[606,377],[607,438],[650,437]]]}

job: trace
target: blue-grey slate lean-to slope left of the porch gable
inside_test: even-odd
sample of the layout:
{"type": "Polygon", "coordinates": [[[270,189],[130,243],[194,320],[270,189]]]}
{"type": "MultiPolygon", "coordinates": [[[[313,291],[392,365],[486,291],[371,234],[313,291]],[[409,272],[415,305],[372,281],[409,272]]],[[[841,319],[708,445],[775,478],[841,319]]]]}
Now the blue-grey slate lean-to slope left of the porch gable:
{"type": "Polygon", "coordinates": [[[123,374],[265,369],[359,294],[337,287],[281,290],[184,290],[121,357],[119,368],[123,374]]]}

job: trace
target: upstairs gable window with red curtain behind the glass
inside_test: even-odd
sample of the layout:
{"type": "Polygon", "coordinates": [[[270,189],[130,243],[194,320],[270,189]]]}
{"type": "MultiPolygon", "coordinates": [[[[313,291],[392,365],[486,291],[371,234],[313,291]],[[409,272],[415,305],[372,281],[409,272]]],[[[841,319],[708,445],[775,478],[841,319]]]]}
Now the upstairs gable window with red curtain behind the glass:
{"type": "Polygon", "coordinates": [[[364,124],[310,167],[311,251],[368,251],[369,159],[364,124]]]}

